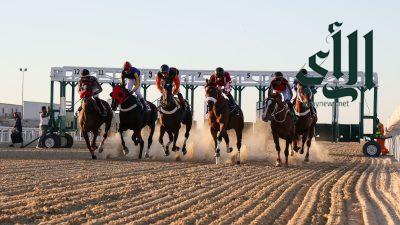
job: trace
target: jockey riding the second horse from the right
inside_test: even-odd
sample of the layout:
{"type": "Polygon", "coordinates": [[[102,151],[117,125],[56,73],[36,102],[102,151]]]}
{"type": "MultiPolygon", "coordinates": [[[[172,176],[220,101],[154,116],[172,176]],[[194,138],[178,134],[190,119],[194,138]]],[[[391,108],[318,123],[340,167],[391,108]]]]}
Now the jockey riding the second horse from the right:
{"type": "Polygon", "coordinates": [[[293,98],[292,88],[290,87],[289,81],[287,81],[279,71],[274,73],[274,79],[271,81],[268,90],[268,95],[275,93],[283,95],[283,101],[288,104],[292,115],[295,115],[293,104],[291,102],[293,98]]]}

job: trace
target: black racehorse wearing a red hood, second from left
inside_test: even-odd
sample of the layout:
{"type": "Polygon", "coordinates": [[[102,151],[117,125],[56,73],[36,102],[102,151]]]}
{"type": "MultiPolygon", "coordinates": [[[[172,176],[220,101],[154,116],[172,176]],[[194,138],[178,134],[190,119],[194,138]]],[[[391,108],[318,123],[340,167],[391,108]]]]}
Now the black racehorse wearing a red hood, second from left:
{"type": "Polygon", "coordinates": [[[145,126],[149,126],[150,134],[147,139],[145,158],[150,158],[150,147],[153,143],[153,135],[158,117],[157,107],[153,103],[147,102],[151,110],[147,111],[145,106],[143,106],[143,109],[140,107],[138,98],[128,93],[128,91],[121,85],[115,85],[110,96],[112,98],[112,110],[116,111],[117,107],[120,106],[120,123],[118,132],[121,136],[121,143],[125,155],[129,153],[129,149],[125,145],[123,136],[124,132],[127,130],[133,130],[131,138],[135,145],[140,144],[139,159],[141,159],[144,148],[144,141],[141,132],[145,126]]]}

